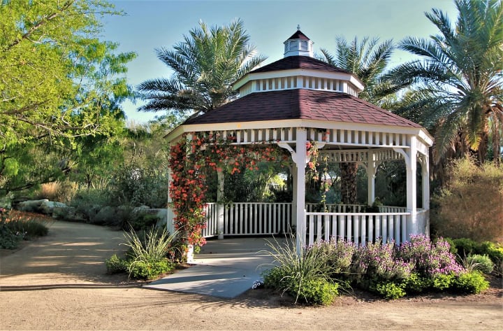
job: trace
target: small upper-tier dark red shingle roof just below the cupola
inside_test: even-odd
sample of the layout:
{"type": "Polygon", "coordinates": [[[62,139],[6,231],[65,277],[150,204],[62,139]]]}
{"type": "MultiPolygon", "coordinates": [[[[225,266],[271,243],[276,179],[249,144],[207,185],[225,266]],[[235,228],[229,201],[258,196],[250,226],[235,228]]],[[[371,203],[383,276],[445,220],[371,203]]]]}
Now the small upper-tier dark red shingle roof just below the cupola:
{"type": "Polygon", "coordinates": [[[351,73],[342,68],[337,68],[337,66],[332,66],[326,62],[320,61],[319,59],[314,59],[309,56],[289,56],[279,59],[276,62],[272,62],[266,66],[250,71],[250,73],[261,73],[269,71],[280,71],[289,69],[312,69],[327,72],[342,72],[351,73]]]}

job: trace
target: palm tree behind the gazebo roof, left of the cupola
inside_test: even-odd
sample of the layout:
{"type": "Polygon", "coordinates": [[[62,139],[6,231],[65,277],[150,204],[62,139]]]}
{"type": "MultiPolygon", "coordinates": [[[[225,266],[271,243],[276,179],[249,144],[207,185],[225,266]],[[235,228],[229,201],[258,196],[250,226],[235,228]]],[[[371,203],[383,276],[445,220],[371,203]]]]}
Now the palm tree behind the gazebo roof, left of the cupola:
{"type": "Polygon", "coordinates": [[[174,74],[138,86],[147,100],[139,110],[177,115],[205,113],[225,104],[237,95],[231,84],[265,60],[256,56],[242,20],[211,28],[200,22],[173,50],[159,48],[156,54],[174,74]]]}

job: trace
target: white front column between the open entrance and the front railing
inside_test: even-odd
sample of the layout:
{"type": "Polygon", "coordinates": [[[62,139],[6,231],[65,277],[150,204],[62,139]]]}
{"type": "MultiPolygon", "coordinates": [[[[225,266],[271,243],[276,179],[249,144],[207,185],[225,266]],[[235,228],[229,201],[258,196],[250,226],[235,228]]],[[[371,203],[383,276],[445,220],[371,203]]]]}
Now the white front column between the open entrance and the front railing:
{"type": "Polygon", "coordinates": [[[297,253],[300,254],[303,246],[305,245],[306,224],[305,224],[305,166],[307,163],[307,132],[303,127],[297,128],[297,141],[296,141],[296,155],[294,161],[297,164],[296,172],[296,248],[297,253]]]}

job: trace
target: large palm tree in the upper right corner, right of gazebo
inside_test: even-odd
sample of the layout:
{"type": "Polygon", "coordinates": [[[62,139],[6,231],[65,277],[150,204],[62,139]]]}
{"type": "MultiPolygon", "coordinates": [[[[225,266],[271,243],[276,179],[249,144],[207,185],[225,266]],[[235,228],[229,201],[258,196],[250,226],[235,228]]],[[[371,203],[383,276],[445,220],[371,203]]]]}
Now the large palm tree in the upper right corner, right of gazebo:
{"type": "Polygon", "coordinates": [[[439,34],[405,38],[399,47],[421,59],[391,72],[401,83],[414,83],[399,113],[435,134],[435,163],[469,152],[486,160],[489,139],[501,158],[503,123],[503,7],[499,0],[456,0],[453,27],[441,10],[426,13],[439,34]]]}

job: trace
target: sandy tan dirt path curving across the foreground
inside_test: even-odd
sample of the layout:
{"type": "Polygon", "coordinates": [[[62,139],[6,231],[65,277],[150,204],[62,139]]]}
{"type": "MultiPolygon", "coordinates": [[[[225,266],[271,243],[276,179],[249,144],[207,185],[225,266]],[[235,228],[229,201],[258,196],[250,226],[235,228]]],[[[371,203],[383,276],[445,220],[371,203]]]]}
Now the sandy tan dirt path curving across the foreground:
{"type": "Polygon", "coordinates": [[[502,330],[503,290],[386,302],[342,297],[291,307],[265,290],[233,300],[146,290],[105,274],[122,232],[55,222],[48,237],[1,252],[1,330],[502,330]]]}

